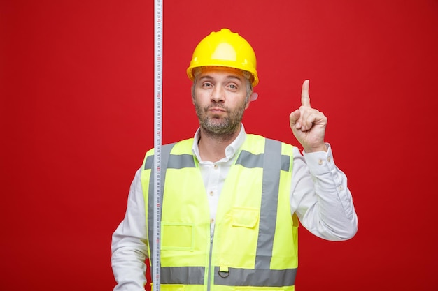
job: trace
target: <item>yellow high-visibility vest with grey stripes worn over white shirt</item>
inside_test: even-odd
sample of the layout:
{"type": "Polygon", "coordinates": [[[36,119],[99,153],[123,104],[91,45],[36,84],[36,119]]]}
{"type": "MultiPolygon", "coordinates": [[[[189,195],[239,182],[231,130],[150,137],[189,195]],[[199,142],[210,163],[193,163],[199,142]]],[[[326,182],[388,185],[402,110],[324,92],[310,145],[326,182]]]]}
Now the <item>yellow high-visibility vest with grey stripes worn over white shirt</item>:
{"type": "MultiPolygon", "coordinates": [[[[295,290],[299,223],[290,211],[292,146],[247,135],[220,193],[211,237],[192,143],[161,151],[161,290],[295,290]]],[[[153,154],[146,153],[141,174],[151,260],[153,154]]]]}

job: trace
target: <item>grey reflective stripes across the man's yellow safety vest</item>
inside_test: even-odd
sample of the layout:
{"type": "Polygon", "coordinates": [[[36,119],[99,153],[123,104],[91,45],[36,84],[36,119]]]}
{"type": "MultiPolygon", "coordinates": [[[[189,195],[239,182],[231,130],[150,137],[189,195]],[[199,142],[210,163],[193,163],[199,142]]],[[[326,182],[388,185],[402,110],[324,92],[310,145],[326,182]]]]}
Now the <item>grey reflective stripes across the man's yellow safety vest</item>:
{"type": "MultiPolygon", "coordinates": [[[[170,154],[174,144],[162,147],[162,185],[167,169],[196,167],[191,154],[170,154]]],[[[255,255],[255,269],[227,268],[227,274],[221,275],[220,267],[214,267],[214,284],[228,286],[282,287],[295,284],[296,268],[270,269],[274,233],[276,230],[276,213],[278,206],[278,186],[281,171],[290,171],[290,156],[281,155],[281,142],[265,139],[264,153],[253,154],[242,150],[236,159],[236,165],[246,168],[263,168],[262,202],[260,208],[260,225],[255,255]]],[[[153,155],[147,156],[144,170],[153,167],[153,155]]],[[[150,171],[148,200],[153,201],[153,171],[150,171]]],[[[164,187],[162,186],[162,191],[164,187]]],[[[161,194],[163,197],[163,193],[161,194]]],[[[163,200],[161,200],[163,201],[163,200]]],[[[148,225],[153,225],[153,203],[148,203],[148,225]]],[[[153,237],[153,227],[148,227],[148,237],[153,237]]],[[[154,241],[149,240],[150,249],[154,241]]],[[[206,269],[199,267],[162,267],[161,283],[203,285],[206,269]]]]}

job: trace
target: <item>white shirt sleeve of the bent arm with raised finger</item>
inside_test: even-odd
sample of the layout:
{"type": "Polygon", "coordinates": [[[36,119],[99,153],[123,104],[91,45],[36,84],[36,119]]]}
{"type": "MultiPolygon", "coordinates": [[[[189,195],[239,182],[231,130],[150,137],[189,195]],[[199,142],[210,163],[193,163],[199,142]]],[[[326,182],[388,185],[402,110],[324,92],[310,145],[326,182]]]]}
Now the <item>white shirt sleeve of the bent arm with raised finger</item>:
{"type": "Polygon", "coordinates": [[[358,217],[347,177],[334,164],[332,149],[304,156],[294,147],[290,207],[302,225],[330,241],[351,239],[358,217]]]}

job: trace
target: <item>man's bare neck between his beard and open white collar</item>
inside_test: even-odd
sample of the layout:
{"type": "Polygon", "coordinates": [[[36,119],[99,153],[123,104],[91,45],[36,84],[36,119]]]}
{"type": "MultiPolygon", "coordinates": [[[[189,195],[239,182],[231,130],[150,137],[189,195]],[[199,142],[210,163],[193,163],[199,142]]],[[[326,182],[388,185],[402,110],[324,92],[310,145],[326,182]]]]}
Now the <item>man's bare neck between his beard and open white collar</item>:
{"type": "Polygon", "coordinates": [[[200,138],[198,140],[199,156],[202,161],[217,162],[225,157],[225,149],[231,144],[239,135],[241,128],[236,130],[232,135],[211,135],[206,133],[203,128],[200,131],[200,138]]]}

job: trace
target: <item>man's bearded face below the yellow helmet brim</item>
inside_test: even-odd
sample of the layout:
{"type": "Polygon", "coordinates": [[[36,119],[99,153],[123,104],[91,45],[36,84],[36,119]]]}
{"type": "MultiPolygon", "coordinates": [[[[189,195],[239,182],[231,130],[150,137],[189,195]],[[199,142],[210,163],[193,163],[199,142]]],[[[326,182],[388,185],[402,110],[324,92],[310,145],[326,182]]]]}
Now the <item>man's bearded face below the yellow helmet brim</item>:
{"type": "Polygon", "coordinates": [[[239,70],[204,69],[194,86],[193,104],[199,124],[206,133],[226,136],[240,129],[249,102],[246,79],[239,70]]]}

